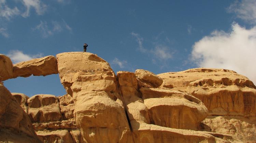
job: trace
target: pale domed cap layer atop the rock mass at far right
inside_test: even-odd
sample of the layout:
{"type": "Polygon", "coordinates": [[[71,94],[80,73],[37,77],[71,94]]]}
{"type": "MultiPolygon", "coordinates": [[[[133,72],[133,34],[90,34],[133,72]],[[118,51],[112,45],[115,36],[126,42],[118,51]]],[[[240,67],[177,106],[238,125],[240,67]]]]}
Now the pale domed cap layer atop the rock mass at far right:
{"type": "Polygon", "coordinates": [[[158,76],[163,79],[162,86],[169,86],[170,88],[194,86],[193,84],[199,85],[207,82],[207,84],[210,84],[208,86],[223,84],[237,85],[240,87],[247,86],[256,89],[253,82],[247,77],[235,71],[225,69],[195,68],[180,72],[161,73],[158,76]]]}

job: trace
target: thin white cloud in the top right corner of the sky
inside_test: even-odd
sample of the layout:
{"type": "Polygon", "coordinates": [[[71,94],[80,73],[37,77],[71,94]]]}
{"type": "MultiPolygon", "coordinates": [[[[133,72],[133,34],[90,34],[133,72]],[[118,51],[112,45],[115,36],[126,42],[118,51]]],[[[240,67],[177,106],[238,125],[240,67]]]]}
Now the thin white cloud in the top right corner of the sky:
{"type": "Polygon", "coordinates": [[[235,1],[229,6],[228,12],[235,13],[238,18],[247,22],[256,23],[255,0],[242,0],[241,2],[235,1]]]}

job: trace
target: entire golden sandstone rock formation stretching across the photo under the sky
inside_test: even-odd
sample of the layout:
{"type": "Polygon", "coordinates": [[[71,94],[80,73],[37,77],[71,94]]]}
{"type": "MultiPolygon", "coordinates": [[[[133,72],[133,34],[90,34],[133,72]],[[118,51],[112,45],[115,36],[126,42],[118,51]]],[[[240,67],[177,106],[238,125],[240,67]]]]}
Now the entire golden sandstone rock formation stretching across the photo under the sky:
{"type": "Polygon", "coordinates": [[[256,87],[234,71],[198,68],[155,75],[136,70],[120,71],[116,76],[108,62],[91,53],[61,53],[57,61],[51,57],[51,66],[45,58],[39,61],[43,68],[34,66],[38,64],[34,59],[16,73],[24,77],[59,73],[67,94],[28,98],[12,93],[15,106],[25,112],[7,106],[8,100],[0,104],[0,142],[23,138],[45,143],[256,141],[256,87]],[[6,116],[5,108],[12,114],[6,116]],[[22,121],[30,118],[32,124],[23,121],[19,134],[12,136],[10,130],[18,129],[20,112],[22,121]],[[9,117],[12,120],[7,121],[9,117]]]}

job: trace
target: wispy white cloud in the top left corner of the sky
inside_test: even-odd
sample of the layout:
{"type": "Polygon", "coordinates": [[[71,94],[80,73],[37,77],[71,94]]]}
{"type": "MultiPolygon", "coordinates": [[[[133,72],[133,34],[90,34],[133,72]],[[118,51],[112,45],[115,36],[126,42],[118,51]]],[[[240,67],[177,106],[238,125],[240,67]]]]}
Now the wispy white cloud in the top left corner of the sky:
{"type": "Polygon", "coordinates": [[[10,8],[6,5],[5,0],[0,0],[0,16],[10,20],[15,15],[19,15],[20,12],[17,7],[10,8]]]}

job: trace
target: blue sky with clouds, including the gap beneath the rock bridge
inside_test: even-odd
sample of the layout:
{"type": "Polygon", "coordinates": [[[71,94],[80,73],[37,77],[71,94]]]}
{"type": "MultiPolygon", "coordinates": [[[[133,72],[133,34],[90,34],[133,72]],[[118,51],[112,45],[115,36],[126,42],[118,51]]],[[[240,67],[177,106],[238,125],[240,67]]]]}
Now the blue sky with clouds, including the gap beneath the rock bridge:
{"type": "MultiPolygon", "coordinates": [[[[225,68],[255,83],[255,24],[254,0],[0,0],[0,53],[16,63],[88,43],[115,72],[225,68]]],[[[28,96],[66,93],[58,75],[4,85],[28,96]]]]}

